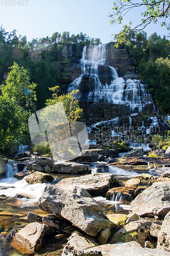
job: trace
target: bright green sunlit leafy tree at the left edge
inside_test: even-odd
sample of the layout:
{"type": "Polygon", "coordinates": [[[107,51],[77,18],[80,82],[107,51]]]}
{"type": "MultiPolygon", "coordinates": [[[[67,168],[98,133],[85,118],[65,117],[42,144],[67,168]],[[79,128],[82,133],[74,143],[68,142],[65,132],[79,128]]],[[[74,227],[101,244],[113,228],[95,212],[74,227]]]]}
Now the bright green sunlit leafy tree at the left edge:
{"type": "Polygon", "coordinates": [[[28,136],[30,107],[34,108],[35,83],[30,83],[27,70],[13,63],[0,96],[0,152],[12,153],[28,136]]]}

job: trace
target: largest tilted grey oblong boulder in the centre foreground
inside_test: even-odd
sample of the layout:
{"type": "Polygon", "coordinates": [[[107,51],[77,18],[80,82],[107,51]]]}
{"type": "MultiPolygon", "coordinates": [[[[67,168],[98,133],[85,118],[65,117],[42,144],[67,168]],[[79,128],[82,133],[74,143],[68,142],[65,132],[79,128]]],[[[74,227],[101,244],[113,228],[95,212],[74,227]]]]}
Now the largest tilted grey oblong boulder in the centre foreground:
{"type": "Polygon", "coordinates": [[[97,236],[101,230],[110,228],[109,220],[94,199],[80,197],[53,185],[45,187],[39,208],[52,215],[62,216],[91,236],[97,236]]]}

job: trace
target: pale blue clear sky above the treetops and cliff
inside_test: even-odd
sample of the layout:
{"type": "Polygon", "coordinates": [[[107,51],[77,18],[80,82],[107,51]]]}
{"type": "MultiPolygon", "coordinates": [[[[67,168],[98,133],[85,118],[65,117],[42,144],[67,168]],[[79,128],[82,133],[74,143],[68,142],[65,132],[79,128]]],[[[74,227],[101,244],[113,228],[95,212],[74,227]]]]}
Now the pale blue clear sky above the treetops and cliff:
{"type": "MultiPolygon", "coordinates": [[[[108,15],[112,13],[113,1],[22,0],[21,6],[21,0],[1,0],[0,25],[3,25],[6,32],[16,29],[17,35],[26,35],[28,41],[37,37],[50,37],[54,32],[62,34],[63,31],[69,31],[70,35],[77,35],[82,31],[89,37],[100,38],[105,44],[112,41],[111,35],[119,33],[124,24],[129,24],[130,19],[134,24],[140,20],[140,12],[135,10],[126,16],[123,25],[111,25],[108,15]]],[[[160,26],[160,22],[149,25],[145,31],[148,36],[153,32],[157,32],[161,37],[169,35],[169,32],[160,26]]]]}

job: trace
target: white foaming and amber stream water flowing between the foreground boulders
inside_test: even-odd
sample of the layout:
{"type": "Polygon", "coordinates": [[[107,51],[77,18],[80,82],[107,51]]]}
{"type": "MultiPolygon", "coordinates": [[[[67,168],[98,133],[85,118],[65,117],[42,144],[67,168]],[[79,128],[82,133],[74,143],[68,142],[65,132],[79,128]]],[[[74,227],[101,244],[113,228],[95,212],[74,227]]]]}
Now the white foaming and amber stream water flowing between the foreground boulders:
{"type": "MultiPolygon", "coordinates": [[[[105,163],[106,164],[106,163],[105,163]]],[[[16,165],[13,166],[16,167],[16,165]]],[[[128,180],[129,178],[140,176],[141,172],[129,172],[113,166],[108,166],[109,173],[113,174],[119,182],[128,180]]],[[[13,168],[14,170],[14,168],[13,168]]],[[[14,172],[17,172],[15,168],[14,172]]],[[[91,169],[91,173],[96,173],[95,166],[91,169]]],[[[11,177],[13,175],[11,165],[8,164],[5,179],[0,180],[0,256],[19,256],[22,255],[14,250],[10,245],[10,233],[16,228],[25,227],[30,221],[27,220],[29,211],[40,216],[46,216],[47,213],[40,210],[38,201],[41,197],[46,183],[28,184],[25,179],[18,181],[11,177]],[[27,198],[18,198],[15,195],[21,194],[27,198]]],[[[53,175],[55,180],[53,184],[58,183],[61,179],[68,177],[78,177],[72,175],[53,175]]],[[[101,205],[102,211],[106,214],[128,214],[130,205],[123,204],[117,197],[115,201],[106,200],[106,198],[98,196],[94,198],[101,205]]]]}

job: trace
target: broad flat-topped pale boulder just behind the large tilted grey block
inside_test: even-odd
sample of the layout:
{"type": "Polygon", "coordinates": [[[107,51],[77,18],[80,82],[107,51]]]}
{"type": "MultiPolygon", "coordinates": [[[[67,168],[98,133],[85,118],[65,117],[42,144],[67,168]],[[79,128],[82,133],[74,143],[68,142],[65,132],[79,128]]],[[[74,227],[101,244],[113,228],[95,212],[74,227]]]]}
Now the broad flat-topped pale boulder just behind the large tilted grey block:
{"type": "Polygon", "coordinates": [[[112,174],[89,174],[80,177],[67,178],[59,181],[56,186],[67,190],[68,186],[79,186],[88,191],[92,197],[104,196],[109,188],[117,184],[117,180],[112,174]]]}

